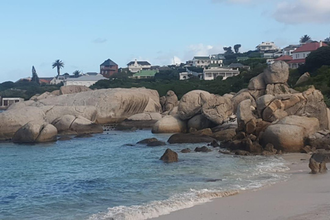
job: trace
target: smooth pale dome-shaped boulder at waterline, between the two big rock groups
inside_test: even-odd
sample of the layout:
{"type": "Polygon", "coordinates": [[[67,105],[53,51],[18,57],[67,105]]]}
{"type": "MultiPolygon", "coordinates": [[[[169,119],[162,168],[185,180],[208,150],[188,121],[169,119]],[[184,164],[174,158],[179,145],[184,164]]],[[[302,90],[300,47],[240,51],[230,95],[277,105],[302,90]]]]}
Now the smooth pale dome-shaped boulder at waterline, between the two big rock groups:
{"type": "Polygon", "coordinates": [[[186,133],[187,122],[176,116],[165,116],[158,120],[151,130],[153,133],[186,133]]]}

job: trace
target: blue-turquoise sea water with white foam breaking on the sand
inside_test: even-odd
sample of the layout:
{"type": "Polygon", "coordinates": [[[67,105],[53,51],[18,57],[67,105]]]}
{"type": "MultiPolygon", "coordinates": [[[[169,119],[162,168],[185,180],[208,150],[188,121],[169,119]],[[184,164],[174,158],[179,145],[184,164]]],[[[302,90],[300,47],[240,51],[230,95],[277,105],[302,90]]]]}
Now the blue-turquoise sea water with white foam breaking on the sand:
{"type": "Polygon", "coordinates": [[[147,219],[287,178],[281,158],[217,150],[179,153],[179,162],[164,164],[166,148],[203,144],[135,144],[147,137],[169,135],[109,131],[50,144],[0,143],[0,219],[147,219]]]}

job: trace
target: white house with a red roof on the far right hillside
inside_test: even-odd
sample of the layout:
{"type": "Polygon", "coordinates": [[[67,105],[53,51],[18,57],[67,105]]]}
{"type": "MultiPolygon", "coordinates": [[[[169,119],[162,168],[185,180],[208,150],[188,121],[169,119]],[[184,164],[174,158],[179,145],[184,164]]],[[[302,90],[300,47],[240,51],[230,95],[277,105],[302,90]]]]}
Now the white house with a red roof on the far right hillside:
{"type": "Polygon", "coordinates": [[[292,69],[296,69],[300,67],[300,65],[305,64],[306,57],[313,51],[318,50],[320,47],[328,46],[326,43],[320,42],[312,42],[306,43],[292,52],[292,61],[288,61],[289,67],[292,69]]]}

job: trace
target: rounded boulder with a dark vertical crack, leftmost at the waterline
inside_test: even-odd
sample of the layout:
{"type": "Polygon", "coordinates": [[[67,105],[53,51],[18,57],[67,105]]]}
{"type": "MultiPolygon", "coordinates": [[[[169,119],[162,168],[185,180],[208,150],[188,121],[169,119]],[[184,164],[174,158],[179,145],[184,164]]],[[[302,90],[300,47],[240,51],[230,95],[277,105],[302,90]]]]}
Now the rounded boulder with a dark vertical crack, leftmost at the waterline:
{"type": "Polygon", "coordinates": [[[39,120],[28,122],[14,133],[14,143],[52,142],[57,139],[57,129],[39,120]]]}

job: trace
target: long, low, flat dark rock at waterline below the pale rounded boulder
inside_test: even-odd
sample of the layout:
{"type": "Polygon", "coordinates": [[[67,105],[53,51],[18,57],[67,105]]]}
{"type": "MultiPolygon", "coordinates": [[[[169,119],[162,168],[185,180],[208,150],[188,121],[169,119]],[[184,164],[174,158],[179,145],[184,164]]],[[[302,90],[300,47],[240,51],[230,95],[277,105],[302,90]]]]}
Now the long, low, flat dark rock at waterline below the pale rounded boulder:
{"type": "Polygon", "coordinates": [[[176,133],[168,139],[170,144],[187,144],[187,143],[210,143],[216,141],[208,135],[196,135],[194,133],[176,133]]]}

